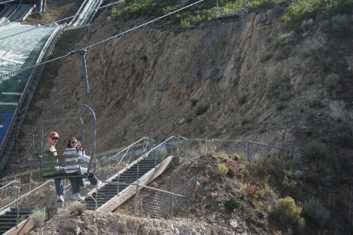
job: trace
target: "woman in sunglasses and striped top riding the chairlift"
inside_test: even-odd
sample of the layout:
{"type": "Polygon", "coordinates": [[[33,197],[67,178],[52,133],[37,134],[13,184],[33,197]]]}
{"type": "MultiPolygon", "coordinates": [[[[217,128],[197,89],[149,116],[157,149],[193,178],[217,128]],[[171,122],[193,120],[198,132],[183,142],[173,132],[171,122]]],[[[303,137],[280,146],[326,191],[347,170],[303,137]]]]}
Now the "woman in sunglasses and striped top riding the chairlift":
{"type": "MultiPolygon", "coordinates": [[[[78,160],[83,160],[85,162],[90,162],[90,157],[88,157],[87,155],[84,155],[83,152],[80,150],[81,148],[81,143],[80,141],[78,141],[76,138],[70,138],[70,140],[68,140],[66,149],[63,153],[63,155],[71,155],[73,157],[65,157],[65,162],[78,162],[78,160]]],[[[97,159],[92,159],[92,163],[95,164],[95,162],[97,161],[97,159]]],[[[75,165],[67,165],[66,167],[66,171],[68,169],[78,169],[80,168],[81,174],[87,174],[88,169],[85,167],[80,167],[78,164],[75,165]]],[[[97,176],[95,176],[94,174],[89,174],[88,175],[88,180],[90,181],[90,184],[93,187],[98,187],[100,186],[100,181],[98,180],[97,176]]],[[[81,188],[80,187],[85,187],[87,183],[85,183],[85,180],[83,178],[71,178],[70,179],[71,182],[71,188],[72,188],[72,195],[71,195],[71,199],[73,200],[80,200],[80,201],[84,201],[85,198],[83,198],[82,196],[80,196],[80,191],[81,188]]]]}

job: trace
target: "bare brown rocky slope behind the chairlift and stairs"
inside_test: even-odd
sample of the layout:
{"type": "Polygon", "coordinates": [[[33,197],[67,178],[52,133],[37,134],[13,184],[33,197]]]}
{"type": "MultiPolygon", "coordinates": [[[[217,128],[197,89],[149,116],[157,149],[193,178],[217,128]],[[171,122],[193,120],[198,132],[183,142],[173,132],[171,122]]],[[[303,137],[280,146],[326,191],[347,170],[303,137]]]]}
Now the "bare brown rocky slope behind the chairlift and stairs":
{"type": "MultiPolygon", "coordinates": [[[[76,49],[138,25],[107,23],[106,16],[85,30],[76,49]]],[[[88,49],[86,102],[97,114],[98,150],[143,135],[163,140],[178,134],[249,138],[302,150],[303,136],[312,128],[312,136],[337,135],[352,112],[346,109],[349,102],[336,102],[323,85],[320,58],[328,42],[318,30],[285,35],[280,21],[268,11],[251,13],[243,23],[210,23],[183,32],[160,22],[88,49]],[[311,106],[315,101],[324,105],[311,106]],[[337,117],[340,123],[331,126],[337,117]]],[[[83,92],[80,56],[57,63],[57,76],[43,78],[54,85],[46,91],[49,97],[34,104],[37,111],[83,92]]]]}

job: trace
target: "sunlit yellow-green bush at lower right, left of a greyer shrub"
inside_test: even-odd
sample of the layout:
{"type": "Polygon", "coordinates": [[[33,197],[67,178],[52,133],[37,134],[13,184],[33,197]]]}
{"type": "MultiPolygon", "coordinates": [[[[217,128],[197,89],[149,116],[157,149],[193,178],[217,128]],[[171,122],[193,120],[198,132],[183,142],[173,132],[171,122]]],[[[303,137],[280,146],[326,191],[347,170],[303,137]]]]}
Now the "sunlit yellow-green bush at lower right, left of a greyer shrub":
{"type": "Polygon", "coordinates": [[[293,224],[300,218],[300,212],[301,207],[295,205],[293,198],[287,197],[278,200],[277,206],[270,215],[280,222],[293,224]]]}

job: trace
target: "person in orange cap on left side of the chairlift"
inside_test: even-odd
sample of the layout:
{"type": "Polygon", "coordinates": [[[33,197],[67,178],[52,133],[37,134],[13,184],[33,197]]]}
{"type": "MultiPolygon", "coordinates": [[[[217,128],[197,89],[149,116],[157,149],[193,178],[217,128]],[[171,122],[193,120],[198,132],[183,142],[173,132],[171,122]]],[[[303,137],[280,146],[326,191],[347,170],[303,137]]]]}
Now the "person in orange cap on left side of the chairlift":
{"type": "MultiPolygon", "coordinates": [[[[50,156],[56,156],[58,155],[56,152],[56,143],[58,143],[59,140],[59,134],[52,131],[49,133],[48,138],[47,138],[47,147],[45,148],[45,151],[43,152],[43,155],[45,156],[45,162],[44,164],[49,164],[55,165],[57,163],[57,159],[55,157],[52,157],[52,160],[50,159],[50,156]]],[[[56,167],[43,167],[41,169],[42,175],[43,176],[52,176],[54,174],[57,174],[57,172],[61,169],[61,167],[56,166],[56,167]]],[[[59,203],[64,203],[64,183],[62,179],[54,179],[55,183],[55,189],[56,189],[56,200],[59,203]]]]}

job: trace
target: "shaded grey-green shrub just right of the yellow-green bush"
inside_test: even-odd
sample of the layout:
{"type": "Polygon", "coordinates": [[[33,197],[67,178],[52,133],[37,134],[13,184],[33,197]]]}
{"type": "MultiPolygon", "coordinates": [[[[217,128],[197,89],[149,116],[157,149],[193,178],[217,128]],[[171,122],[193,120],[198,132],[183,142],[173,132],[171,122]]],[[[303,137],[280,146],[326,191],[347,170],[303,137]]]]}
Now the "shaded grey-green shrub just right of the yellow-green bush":
{"type": "Polygon", "coordinates": [[[302,208],[304,217],[311,218],[320,224],[324,224],[330,214],[330,212],[323,207],[320,200],[316,198],[298,202],[298,206],[302,208]]]}

